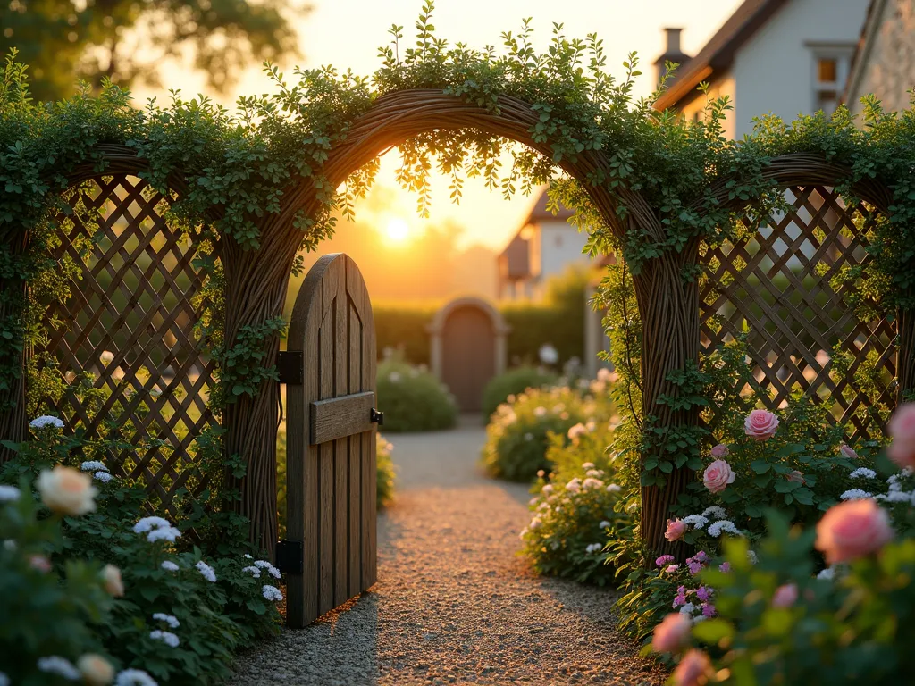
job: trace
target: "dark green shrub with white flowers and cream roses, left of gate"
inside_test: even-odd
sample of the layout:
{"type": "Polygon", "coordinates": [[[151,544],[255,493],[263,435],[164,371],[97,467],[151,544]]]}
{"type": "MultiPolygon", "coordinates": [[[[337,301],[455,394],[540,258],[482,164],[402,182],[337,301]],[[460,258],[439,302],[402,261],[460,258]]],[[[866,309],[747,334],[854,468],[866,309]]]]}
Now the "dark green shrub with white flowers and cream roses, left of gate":
{"type": "Polygon", "coordinates": [[[53,423],[33,429],[40,441],[16,446],[0,473],[0,638],[13,683],[109,683],[118,670],[124,684],[214,683],[235,650],[278,630],[280,573],[252,563],[246,542],[204,552],[219,546],[188,535],[203,519],[141,517],[143,486],[103,460],[53,464],[74,439],[53,423]]]}

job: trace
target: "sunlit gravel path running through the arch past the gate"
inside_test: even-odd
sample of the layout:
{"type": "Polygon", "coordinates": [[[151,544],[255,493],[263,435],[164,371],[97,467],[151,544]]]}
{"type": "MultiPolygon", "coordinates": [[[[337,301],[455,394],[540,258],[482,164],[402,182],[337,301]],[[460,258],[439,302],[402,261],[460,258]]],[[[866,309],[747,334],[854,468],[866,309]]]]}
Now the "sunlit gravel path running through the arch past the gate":
{"type": "Polygon", "coordinates": [[[396,500],[380,581],[242,656],[232,684],[661,684],[613,629],[611,592],[533,575],[516,555],[527,489],[479,473],[479,419],[391,435],[396,500]]]}

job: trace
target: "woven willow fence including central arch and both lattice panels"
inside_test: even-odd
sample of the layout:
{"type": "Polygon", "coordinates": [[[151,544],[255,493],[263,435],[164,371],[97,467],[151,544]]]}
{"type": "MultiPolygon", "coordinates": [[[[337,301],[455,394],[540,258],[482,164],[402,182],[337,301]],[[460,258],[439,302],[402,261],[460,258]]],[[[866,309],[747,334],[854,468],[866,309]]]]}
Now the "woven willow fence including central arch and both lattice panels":
{"type": "MultiPolygon", "coordinates": [[[[329,188],[337,188],[392,146],[419,134],[456,129],[513,139],[549,158],[550,142],[532,133],[541,116],[532,104],[507,96],[493,112],[443,91],[396,91],[379,98],[351,124],[346,139],[328,152],[322,173],[329,188]]],[[[92,228],[70,217],[59,224],[54,257],[69,255],[80,276],[72,281],[70,303],[48,312],[52,336],[46,352],[59,359],[62,373],[88,372],[96,388],[107,389],[104,407],[120,413],[115,421],[129,419],[131,440],[145,445],[140,455],[124,451],[117,456],[119,469],[145,479],[151,494],[166,506],[178,488],[203,486],[205,479],[187,483],[185,475],[198,459],[195,437],[218,420],[224,453],[241,456],[247,472],[241,480],[225,474],[207,476],[225,478],[240,489],[237,508],[252,522],[252,541],[273,552],[276,382],[264,379],[256,393],[242,394],[226,405],[221,417],[209,413],[201,399],[219,370],[191,332],[200,323],[199,296],[206,278],[195,268],[193,257],[199,241],[210,239],[169,229],[162,213],[169,198],[145,188],[140,177],[146,163],[135,148],[109,145],[101,152],[101,171],[93,164],[70,175],[70,188],[81,188],[72,201],[82,201],[100,214],[92,228]],[[102,359],[106,350],[113,358],[102,359]]],[[[628,234],[640,234],[662,243],[662,220],[640,192],[616,188],[611,194],[591,183],[606,176],[611,164],[610,155],[600,150],[559,162],[581,183],[593,208],[621,242],[628,234]],[[618,212],[619,204],[625,205],[625,213],[618,212]]],[[[763,402],[777,408],[788,393],[800,389],[832,403],[835,421],[867,434],[878,421],[868,408],[877,400],[895,402],[900,391],[912,386],[912,317],[900,313],[892,321],[858,322],[844,290],[851,286],[835,290],[832,276],[844,264],[867,263],[868,222],[888,213],[888,189],[876,183],[858,185],[853,191],[861,202],[846,206],[834,186],[849,176],[849,170],[816,155],[770,160],[764,175],[784,192],[791,205],[787,213],[772,216],[760,230],[715,249],[694,239],[678,252],[647,260],[634,276],[643,327],[643,406],[662,431],[696,426],[696,408],[658,403],[679,392],[672,372],[698,361],[700,352],[736,336],[746,324],[753,332],[753,386],[763,402]],[[684,273],[697,265],[701,278],[684,279],[684,273]],[[836,378],[830,362],[836,349],[850,352],[856,360],[870,356],[879,374],[897,380],[895,386],[888,383],[883,397],[875,399],[856,386],[854,373],[836,378]]],[[[176,194],[182,192],[180,175],[172,188],[176,194]]],[[[710,192],[723,204],[742,207],[729,197],[724,181],[710,192]]],[[[318,212],[324,202],[318,193],[307,181],[287,188],[279,211],[257,220],[257,250],[243,250],[228,238],[210,246],[224,273],[223,336],[228,345],[241,340],[248,327],[281,315],[302,238],[294,219],[300,211],[307,216],[318,212]]],[[[23,234],[5,236],[6,250],[25,250],[23,234]]],[[[273,366],[278,334],[259,345],[261,362],[273,366]]],[[[13,407],[0,416],[0,431],[7,439],[27,435],[26,392],[24,381],[7,391],[6,400],[13,401],[13,407]]],[[[70,394],[59,410],[71,423],[82,418],[92,430],[92,417],[103,413],[90,413],[87,402],[86,397],[70,394]]],[[[684,466],[668,477],[667,488],[648,486],[642,492],[642,536],[656,550],[666,549],[663,530],[669,506],[694,474],[684,466]]]]}

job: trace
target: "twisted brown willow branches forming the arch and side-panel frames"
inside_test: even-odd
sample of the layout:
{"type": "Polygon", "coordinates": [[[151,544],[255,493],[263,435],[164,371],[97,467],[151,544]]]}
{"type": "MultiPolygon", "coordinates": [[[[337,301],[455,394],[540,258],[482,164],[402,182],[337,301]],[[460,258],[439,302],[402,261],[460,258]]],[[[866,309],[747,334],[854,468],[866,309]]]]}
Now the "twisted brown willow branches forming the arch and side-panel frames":
{"type": "MultiPolygon", "coordinates": [[[[530,102],[511,96],[501,96],[497,109],[468,103],[441,90],[414,89],[393,91],[379,97],[371,108],[349,125],[346,138],[329,150],[321,173],[327,183],[316,188],[313,178],[304,178],[285,195],[278,212],[258,218],[260,247],[245,250],[231,238],[221,241],[220,259],[225,273],[224,338],[228,344],[237,341],[244,327],[254,327],[279,316],[285,303],[288,274],[299,249],[302,231],[294,224],[300,211],[314,216],[327,202],[328,186],[337,188],[350,174],[393,146],[400,145],[419,134],[428,132],[473,129],[495,137],[509,138],[534,151],[552,155],[549,141],[534,140],[531,133],[539,114],[530,102]]],[[[584,137],[584,136],[583,136],[584,137]]],[[[103,174],[139,174],[146,162],[135,148],[126,145],[100,145],[94,150],[97,158],[70,173],[70,185],[103,174]]],[[[606,176],[612,151],[585,150],[574,157],[564,157],[556,166],[575,178],[587,193],[593,208],[606,222],[609,230],[622,241],[626,236],[640,234],[661,243],[666,234],[658,213],[638,191],[629,188],[607,188],[590,179],[606,176]],[[618,213],[620,206],[626,211],[618,213]]],[[[783,155],[766,163],[762,177],[776,186],[821,183],[834,185],[849,177],[847,168],[827,162],[820,155],[783,155]]],[[[729,197],[729,179],[708,188],[708,194],[720,205],[731,204],[739,209],[743,200],[729,197]]],[[[168,185],[181,192],[186,188],[180,174],[169,178],[168,185]]],[[[888,212],[890,192],[878,182],[859,184],[853,188],[888,212]]],[[[708,198],[696,198],[694,207],[701,209],[708,198]]],[[[219,208],[213,209],[218,217],[219,208]]],[[[16,250],[25,250],[27,241],[17,236],[16,250]]],[[[677,397],[679,389],[669,380],[671,372],[683,370],[699,358],[700,323],[699,291],[694,282],[684,280],[684,270],[699,261],[701,240],[688,241],[684,249],[667,251],[641,265],[633,281],[642,319],[641,380],[642,401],[655,416],[656,426],[665,430],[694,427],[698,423],[695,410],[672,410],[659,404],[662,396],[677,397]]],[[[912,316],[899,317],[900,357],[899,387],[912,386],[912,316]],[[908,360],[908,361],[907,361],[908,360]]],[[[264,366],[274,365],[277,338],[264,346],[264,366]]],[[[273,552],[276,541],[275,511],[275,426],[278,408],[274,381],[263,381],[253,396],[241,395],[229,404],[223,415],[223,446],[229,456],[242,456],[247,462],[247,476],[240,481],[228,477],[241,491],[237,509],[252,521],[252,541],[273,552]]],[[[13,390],[24,394],[24,385],[13,390]]],[[[25,435],[23,405],[18,414],[0,416],[0,426],[10,427],[7,435],[25,435]]],[[[644,459],[644,456],[643,456],[644,459]]],[[[692,479],[688,469],[676,469],[668,479],[668,488],[643,488],[644,512],[641,535],[643,541],[656,551],[670,546],[663,540],[663,524],[670,505],[692,479]]]]}

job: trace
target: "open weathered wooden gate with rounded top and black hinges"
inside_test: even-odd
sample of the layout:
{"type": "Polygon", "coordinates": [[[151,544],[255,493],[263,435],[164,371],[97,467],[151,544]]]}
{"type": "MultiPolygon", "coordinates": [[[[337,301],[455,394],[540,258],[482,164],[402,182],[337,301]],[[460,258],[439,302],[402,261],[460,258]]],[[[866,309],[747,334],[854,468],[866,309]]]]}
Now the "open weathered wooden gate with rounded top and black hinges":
{"type": "Polygon", "coordinates": [[[284,356],[284,547],[301,555],[298,570],[285,565],[290,627],[310,624],[377,578],[375,359],[359,267],[345,254],[325,255],[296,298],[284,356]]]}

